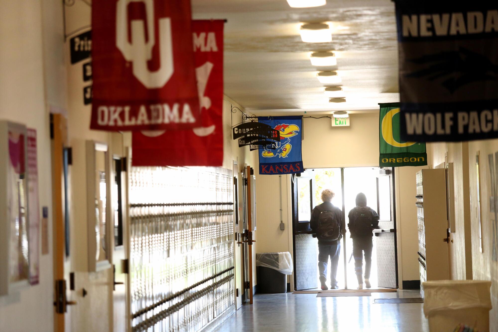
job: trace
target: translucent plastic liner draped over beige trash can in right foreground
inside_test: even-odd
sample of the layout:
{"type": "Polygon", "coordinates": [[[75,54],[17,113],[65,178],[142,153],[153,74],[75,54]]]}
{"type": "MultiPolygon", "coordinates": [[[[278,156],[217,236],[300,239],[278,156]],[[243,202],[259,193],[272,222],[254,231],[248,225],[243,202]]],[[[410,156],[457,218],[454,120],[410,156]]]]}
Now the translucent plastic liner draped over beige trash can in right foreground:
{"type": "Polygon", "coordinates": [[[424,288],[424,314],[428,318],[440,312],[471,308],[492,309],[491,281],[428,281],[424,288]]]}

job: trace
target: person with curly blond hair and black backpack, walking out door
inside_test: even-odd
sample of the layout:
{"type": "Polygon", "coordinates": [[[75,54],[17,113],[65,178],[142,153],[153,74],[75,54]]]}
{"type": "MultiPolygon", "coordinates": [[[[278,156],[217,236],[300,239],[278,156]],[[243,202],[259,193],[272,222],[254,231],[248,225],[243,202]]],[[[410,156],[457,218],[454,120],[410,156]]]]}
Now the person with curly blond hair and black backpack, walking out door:
{"type": "Polygon", "coordinates": [[[341,254],[342,229],[344,219],[342,210],[331,203],[335,194],[332,190],[322,191],[323,203],[315,206],[311,213],[310,227],[318,238],[318,270],[322,290],[327,290],[327,264],[330,256],[330,286],[338,289],[337,265],[341,254]]]}

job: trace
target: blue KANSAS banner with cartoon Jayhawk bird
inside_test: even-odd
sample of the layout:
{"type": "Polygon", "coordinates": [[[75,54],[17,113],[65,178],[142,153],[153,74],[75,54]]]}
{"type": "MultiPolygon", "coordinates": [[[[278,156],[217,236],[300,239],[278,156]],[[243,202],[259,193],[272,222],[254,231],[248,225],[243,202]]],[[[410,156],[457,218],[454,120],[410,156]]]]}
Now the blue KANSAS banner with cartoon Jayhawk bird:
{"type": "Polygon", "coordinates": [[[302,116],[258,117],[258,122],[278,130],[275,149],[259,149],[259,174],[292,174],[304,171],[301,157],[302,116]]]}

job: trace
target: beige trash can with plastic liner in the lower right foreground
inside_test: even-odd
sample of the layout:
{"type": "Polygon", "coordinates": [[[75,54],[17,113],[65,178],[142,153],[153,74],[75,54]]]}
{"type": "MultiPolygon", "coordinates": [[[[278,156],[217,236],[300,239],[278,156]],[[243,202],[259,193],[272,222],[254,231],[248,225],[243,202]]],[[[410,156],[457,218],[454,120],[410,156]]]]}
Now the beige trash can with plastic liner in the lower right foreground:
{"type": "Polygon", "coordinates": [[[490,331],[491,281],[441,280],[422,285],[429,331],[454,331],[459,325],[490,331]]]}

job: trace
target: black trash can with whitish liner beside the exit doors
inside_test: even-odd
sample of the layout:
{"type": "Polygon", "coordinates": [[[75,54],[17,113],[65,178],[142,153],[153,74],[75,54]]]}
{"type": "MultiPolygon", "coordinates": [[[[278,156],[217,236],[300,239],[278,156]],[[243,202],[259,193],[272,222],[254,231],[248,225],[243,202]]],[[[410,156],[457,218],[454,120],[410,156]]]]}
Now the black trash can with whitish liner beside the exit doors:
{"type": "Polygon", "coordinates": [[[286,293],[287,275],[293,265],[289,252],[263,252],[256,254],[258,293],[286,293]]]}

